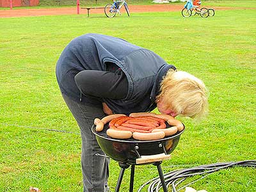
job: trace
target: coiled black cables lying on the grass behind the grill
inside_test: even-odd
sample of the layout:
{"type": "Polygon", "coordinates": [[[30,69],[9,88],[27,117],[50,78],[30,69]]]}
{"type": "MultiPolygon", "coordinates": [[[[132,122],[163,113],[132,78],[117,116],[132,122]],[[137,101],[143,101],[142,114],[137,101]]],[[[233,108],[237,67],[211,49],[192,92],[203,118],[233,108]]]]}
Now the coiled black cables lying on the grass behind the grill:
{"type": "MultiPolygon", "coordinates": [[[[204,164],[201,166],[196,166],[193,168],[184,168],[180,170],[174,170],[172,172],[164,174],[164,180],[166,182],[166,186],[172,185],[172,192],[180,191],[181,189],[186,188],[187,186],[195,183],[196,181],[200,179],[204,179],[208,175],[217,172],[218,170],[222,170],[225,168],[231,168],[233,166],[252,166],[256,167],[256,161],[255,160],[248,160],[248,161],[238,161],[238,162],[227,162],[227,163],[214,163],[214,164],[204,164]],[[176,189],[178,185],[180,185],[184,180],[188,179],[188,177],[193,177],[195,175],[204,175],[200,179],[196,179],[193,182],[190,182],[189,184],[186,184],[186,186],[182,186],[179,189],[176,189]]],[[[159,177],[156,177],[154,179],[148,180],[145,184],[143,184],[140,189],[138,189],[137,192],[140,192],[145,186],[148,185],[148,192],[158,192],[159,189],[162,187],[161,180],[159,177]]]]}

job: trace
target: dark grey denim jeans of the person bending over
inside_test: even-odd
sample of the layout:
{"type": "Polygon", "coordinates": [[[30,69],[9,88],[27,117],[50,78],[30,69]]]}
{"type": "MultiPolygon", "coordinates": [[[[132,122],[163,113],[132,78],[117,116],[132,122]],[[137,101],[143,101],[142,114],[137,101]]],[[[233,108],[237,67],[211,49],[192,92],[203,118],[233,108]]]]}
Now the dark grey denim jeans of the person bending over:
{"type": "Polygon", "coordinates": [[[74,102],[65,94],[62,94],[62,97],[81,131],[81,166],[84,192],[106,192],[108,190],[109,157],[104,157],[105,154],[91,131],[94,118],[102,118],[105,114],[102,108],[74,102]],[[103,156],[96,156],[95,154],[103,156]]]}

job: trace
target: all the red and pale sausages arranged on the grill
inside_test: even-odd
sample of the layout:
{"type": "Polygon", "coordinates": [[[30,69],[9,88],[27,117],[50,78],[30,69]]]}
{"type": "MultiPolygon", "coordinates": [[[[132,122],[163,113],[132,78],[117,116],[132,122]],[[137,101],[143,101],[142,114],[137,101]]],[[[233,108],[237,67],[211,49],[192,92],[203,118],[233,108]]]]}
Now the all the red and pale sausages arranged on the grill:
{"type": "Polygon", "coordinates": [[[108,136],[118,139],[132,137],[136,140],[159,140],[164,136],[171,136],[184,129],[184,125],[170,115],[131,113],[129,116],[124,114],[109,115],[101,120],[95,118],[95,130],[102,131],[104,125],[108,123],[108,136]],[[166,122],[172,127],[166,128],[166,122]]]}

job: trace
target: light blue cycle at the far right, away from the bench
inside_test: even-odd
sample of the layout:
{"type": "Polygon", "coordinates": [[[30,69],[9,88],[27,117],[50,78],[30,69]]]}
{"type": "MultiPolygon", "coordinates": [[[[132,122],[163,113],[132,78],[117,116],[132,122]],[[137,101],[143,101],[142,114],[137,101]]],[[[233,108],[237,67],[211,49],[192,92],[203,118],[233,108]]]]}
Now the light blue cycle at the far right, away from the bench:
{"type": "Polygon", "coordinates": [[[199,8],[199,6],[193,5],[191,0],[188,0],[181,11],[183,17],[190,17],[191,15],[200,15],[201,17],[208,17],[209,11],[207,8],[199,8]]]}

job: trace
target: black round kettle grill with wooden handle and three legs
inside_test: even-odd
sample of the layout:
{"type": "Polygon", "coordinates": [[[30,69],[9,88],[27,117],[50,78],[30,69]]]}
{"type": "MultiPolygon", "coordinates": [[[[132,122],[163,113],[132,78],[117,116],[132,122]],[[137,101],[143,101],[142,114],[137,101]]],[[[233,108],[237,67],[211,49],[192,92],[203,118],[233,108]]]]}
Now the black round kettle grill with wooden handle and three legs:
{"type": "MultiPolygon", "coordinates": [[[[167,128],[170,125],[166,124],[167,128]]],[[[157,166],[157,171],[161,179],[164,192],[168,192],[164,175],[161,168],[163,160],[170,159],[170,154],[177,147],[180,135],[184,129],[173,136],[166,136],[161,140],[139,141],[129,138],[126,140],[110,138],[106,131],[109,129],[108,124],[100,132],[95,131],[95,125],[92,126],[92,132],[95,134],[97,142],[103,152],[111,159],[118,162],[121,170],[117,180],[115,192],[118,192],[121,186],[125,169],[131,165],[131,177],[129,192],[133,191],[134,170],[136,164],[153,164],[157,166]]]]}

